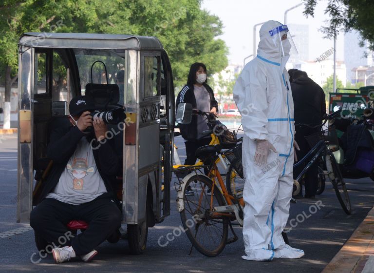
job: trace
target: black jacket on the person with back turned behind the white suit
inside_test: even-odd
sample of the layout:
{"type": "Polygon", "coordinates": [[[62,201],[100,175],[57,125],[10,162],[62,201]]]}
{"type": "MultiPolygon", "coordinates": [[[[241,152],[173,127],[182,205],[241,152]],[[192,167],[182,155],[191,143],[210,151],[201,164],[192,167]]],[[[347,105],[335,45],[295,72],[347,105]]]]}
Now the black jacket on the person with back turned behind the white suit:
{"type": "Polygon", "coordinates": [[[311,78],[298,78],[291,82],[294,98],[295,124],[318,125],[326,114],[325,93],[311,78]]]}

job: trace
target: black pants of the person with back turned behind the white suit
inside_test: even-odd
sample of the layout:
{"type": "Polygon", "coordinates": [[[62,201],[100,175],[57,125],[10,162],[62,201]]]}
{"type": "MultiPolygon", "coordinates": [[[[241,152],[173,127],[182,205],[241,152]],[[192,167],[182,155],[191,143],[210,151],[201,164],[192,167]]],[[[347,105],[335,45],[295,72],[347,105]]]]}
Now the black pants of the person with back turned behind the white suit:
{"type": "MultiPolygon", "coordinates": [[[[298,126],[296,128],[296,135],[295,140],[298,142],[300,151],[296,151],[296,155],[298,156],[298,160],[301,160],[310,150],[312,147],[309,146],[308,142],[306,141],[305,137],[317,133],[319,129],[316,128],[308,128],[305,126],[298,126]]],[[[294,168],[294,178],[298,177],[301,171],[304,169],[306,163],[309,162],[311,157],[308,157],[307,160],[294,168]]],[[[295,162],[297,163],[297,162],[295,162]]],[[[312,166],[309,167],[308,171],[305,173],[304,176],[304,186],[305,186],[305,195],[316,195],[317,187],[318,187],[318,160],[316,160],[312,166]]]]}

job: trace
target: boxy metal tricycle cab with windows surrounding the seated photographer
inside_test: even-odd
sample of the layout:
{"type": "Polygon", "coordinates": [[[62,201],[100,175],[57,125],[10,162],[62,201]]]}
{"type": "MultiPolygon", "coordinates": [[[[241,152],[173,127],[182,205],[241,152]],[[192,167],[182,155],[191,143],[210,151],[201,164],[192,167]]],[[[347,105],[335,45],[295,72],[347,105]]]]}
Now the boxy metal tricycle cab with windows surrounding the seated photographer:
{"type": "Polygon", "coordinates": [[[128,120],[126,126],[110,127],[107,138],[114,138],[121,158],[116,189],[122,222],[138,225],[135,230],[141,233],[170,211],[174,87],[168,55],[155,37],[85,33],[20,37],[17,220],[29,220],[37,185],[42,187],[53,166],[47,158],[51,164],[36,177],[50,142],[51,120],[67,118],[70,100],[83,95],[92,83],[101,90],[108,83],[118,85],[116,105],[128,120]]]}

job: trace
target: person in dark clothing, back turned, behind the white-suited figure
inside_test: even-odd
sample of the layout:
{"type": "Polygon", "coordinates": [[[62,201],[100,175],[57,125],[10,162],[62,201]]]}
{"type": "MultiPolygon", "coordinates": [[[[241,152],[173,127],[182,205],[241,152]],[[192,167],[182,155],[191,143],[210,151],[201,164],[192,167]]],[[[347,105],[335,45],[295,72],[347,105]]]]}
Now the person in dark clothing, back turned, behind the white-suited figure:
{"type": "MultiPolygon", "coordinates": [[[[299,144],[296,151],[299,159],[303,158],[312,147],[309,146],[305,137],[317,133],[320,128],[298,126],[299,123],[311,126],[322,124],[323,115],[326,114],[325,93],[322,88],[314,82],[304,71],[293,72],[291,82],[292,97],[295,108],[295,140],[299,144]]],[[[294,168],[294,177],[297,177],[304,166],[294,168]]],[[[318,186],[318,163],[317,161],[309,168],[304,176],[305,197],[314,198],[318,186]]],[[[302,193],[301,193],[302,195],[302,193]]]]}

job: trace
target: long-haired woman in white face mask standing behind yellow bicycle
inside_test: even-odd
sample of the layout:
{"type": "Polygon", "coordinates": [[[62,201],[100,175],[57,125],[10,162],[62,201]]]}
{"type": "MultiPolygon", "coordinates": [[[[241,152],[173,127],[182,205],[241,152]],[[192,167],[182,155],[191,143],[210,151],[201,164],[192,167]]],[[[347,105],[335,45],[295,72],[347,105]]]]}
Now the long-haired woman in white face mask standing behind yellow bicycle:
{"type": "MultiPolygon", "coordinates": [[[[179,92],[176,105],[178,106],[181,102],[191,103],[194,109],[217,114],[218,102],[214,98],[213,90],[206,84],[206,66],[204,63],[195,62],[191,65],[187,84],[179,92]]],[[[211,137],[202,137],[202,133],[208,129],[206,118],[200,115],[193,115],[189,124],[180,124],[181,135],[186,144],[186,165],[195,164],[196,150],[209,144],[211,137]]],[[[193,195],[193,192],[186,191],[186,194],[193,195]]]]}

